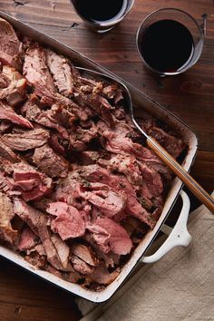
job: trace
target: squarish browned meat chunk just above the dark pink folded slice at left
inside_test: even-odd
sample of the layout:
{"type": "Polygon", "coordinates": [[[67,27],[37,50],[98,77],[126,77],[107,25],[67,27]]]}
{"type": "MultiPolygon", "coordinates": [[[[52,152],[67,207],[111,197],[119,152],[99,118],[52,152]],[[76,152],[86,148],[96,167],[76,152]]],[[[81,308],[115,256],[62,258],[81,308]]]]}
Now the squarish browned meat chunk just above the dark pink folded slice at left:
{"type": "Polygon", "coordinates": [[[68,174],[69,163],[62,156],[57,155],[47,144],[35,149],[33,160],[40,170],[52,178],[63,178],[68,174]]]}

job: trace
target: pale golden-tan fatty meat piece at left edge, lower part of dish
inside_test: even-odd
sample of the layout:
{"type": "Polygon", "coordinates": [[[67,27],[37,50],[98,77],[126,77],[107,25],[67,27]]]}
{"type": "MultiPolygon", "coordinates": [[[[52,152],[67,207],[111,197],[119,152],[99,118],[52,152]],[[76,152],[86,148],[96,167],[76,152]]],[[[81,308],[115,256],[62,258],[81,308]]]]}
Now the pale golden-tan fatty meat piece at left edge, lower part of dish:
{"type": "Polygon", "coordinates": [[[11,226],[11,220],[15,212],[11,200],[0,192],[0,238],[13,244],[17,237],[17,231],[11,226]]]}

